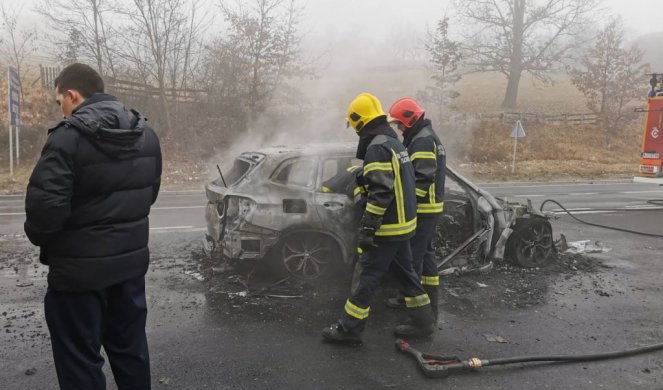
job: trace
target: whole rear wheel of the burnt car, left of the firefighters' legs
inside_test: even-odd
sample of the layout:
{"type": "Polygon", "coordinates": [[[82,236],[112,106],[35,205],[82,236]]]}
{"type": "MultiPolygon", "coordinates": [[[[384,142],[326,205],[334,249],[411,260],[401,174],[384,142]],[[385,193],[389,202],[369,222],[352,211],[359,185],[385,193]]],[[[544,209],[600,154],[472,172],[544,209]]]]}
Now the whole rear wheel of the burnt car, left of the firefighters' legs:
{"type": "Polygon", "coordinates": [[[284,275],[315,280],[328,275],[341,262],[339,256],[341,252],[331,237],[298,232],[281,240],[274,261],[277,270],[284,275]]]}

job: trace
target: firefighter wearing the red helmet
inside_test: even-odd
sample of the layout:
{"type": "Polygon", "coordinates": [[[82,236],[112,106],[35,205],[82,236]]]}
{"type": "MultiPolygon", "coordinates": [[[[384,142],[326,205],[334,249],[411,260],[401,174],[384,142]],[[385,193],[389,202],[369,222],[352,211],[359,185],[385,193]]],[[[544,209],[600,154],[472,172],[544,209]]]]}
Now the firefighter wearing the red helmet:
{"type": "MultiPolygon", "coordinates": [[[[414,167],[417,195],[417,231],[410,240],[412,264],[421,277],[421,284],[431,300],[437,320],[440,280],[435,262],[435,226],[444,208],[446,152],[431,121],[424,118],[424,109],[411,98],[398,99],[389,109],[389,121],[403,132],[414,167]]],[[[402,298],[390,298],[387,306],[403,307],[402,298]]]]}

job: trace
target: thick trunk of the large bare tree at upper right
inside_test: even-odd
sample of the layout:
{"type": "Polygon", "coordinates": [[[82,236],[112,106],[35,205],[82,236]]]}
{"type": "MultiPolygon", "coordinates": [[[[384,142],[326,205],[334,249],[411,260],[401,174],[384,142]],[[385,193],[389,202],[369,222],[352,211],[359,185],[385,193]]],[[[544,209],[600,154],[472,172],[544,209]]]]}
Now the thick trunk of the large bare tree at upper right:
{"type": "Polygon", "coordinates": [[[513,47],[509,60],[509,83],[506,87],[503,108],[514,108],[518,102],[518,86],[523,73],[523,34],[525,28],[525,0],[513,2],[513,47]]]}

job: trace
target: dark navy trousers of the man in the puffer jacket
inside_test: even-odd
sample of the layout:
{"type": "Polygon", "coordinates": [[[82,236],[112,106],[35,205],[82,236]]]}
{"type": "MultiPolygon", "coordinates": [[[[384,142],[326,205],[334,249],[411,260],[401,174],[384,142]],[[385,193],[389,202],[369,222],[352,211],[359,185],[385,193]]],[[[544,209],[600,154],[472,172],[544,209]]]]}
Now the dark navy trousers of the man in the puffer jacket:
{"type": "Polygon", "coordinates": [[[49,287],[44,309],[61,389],[106,389],[102,346],[118,389],[150,389],[143,276],[99,291],[49,287]]]}

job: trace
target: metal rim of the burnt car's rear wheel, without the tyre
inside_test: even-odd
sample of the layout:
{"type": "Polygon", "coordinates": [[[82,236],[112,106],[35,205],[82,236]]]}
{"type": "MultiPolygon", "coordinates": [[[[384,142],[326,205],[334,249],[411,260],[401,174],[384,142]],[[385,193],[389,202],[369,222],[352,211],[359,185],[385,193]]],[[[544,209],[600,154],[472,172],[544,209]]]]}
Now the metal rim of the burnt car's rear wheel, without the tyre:
{"type": "Polygon", "coordinates": [[[322,276],[329,268],[330,254],[329,242],[312,234],[291,236],[286,239],[281,249],[286,271],[302,279],[322,276]]]}

